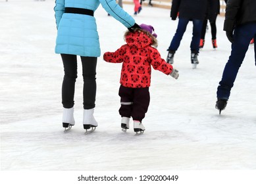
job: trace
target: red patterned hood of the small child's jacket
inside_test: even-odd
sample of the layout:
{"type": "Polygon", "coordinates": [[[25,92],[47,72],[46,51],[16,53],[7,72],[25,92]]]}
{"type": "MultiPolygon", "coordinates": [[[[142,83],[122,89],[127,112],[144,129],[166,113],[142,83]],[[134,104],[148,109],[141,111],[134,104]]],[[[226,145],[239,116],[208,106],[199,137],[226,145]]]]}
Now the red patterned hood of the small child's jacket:
{"type": "Polygon", "coordinates": [[[143,48],[153,43],[151,37],[143,32],[130,32],[128,35],[126,35],[125,41],[130,47],[135,46],[138,48],[143,48]]]}

